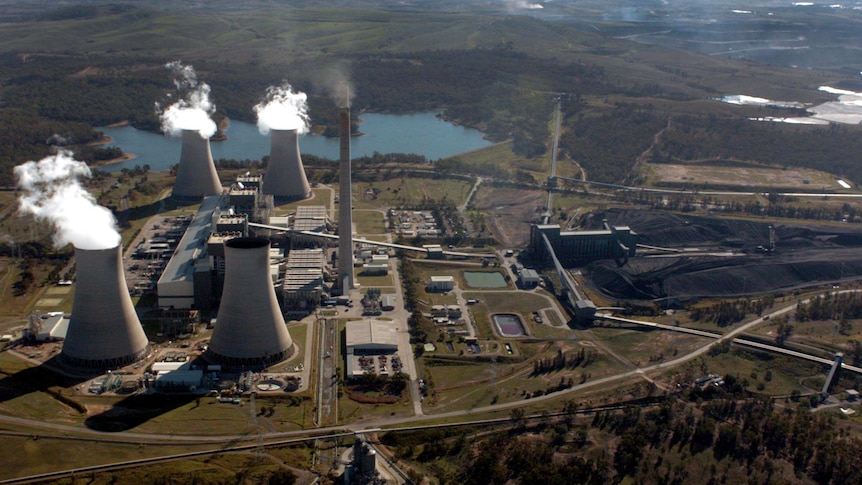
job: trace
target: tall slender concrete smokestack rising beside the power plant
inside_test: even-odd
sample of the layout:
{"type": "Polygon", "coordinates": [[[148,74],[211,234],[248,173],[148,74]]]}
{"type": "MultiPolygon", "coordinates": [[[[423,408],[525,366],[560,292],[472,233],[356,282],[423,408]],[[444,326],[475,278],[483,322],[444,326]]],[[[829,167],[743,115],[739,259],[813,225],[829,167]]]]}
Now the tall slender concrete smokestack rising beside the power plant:
{"type": "MultiPolygon", "coordinates": [[[[344,88],[347,89],[346,87],[344,88]]],[[[341,206],[338,208],[338,288],[347,295],[354,286],[353,275],[353,197],[350,178],[350,106],[345,92],[338,111],[338,132],[341,138],[340,176],[338,194],[341,206]]]]}

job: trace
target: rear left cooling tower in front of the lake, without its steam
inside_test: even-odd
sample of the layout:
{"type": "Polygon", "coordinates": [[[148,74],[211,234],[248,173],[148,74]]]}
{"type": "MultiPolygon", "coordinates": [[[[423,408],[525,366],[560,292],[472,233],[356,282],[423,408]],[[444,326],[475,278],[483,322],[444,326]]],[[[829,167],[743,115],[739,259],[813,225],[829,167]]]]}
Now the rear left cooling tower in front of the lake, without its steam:
{"type": "Polygon", "coordinates": [[[183,148],[171,196],[188,200],[221,193],[209,139],[202,138],[196,130],[183,130],[183,148]]]}

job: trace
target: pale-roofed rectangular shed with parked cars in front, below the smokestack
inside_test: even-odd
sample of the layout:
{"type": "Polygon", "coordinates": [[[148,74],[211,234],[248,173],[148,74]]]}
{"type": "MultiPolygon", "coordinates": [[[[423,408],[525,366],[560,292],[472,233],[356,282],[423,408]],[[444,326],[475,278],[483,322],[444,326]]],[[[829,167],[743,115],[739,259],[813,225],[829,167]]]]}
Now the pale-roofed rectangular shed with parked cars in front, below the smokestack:
{"type": "Polygon", "coordinates": [[[385,320],[352,320],[344,329],[347,355],[346,376],[361,376],[365,373],[386,375],[400,369],[398,333],[395,322],[385,320]]]}

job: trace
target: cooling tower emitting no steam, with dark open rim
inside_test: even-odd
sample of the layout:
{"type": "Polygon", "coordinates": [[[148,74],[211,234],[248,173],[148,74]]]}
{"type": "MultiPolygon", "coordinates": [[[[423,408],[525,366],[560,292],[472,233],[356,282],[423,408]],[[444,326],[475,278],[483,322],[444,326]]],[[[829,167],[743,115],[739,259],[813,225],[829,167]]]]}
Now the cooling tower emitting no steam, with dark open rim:
{"type": "Polygon", "coordinates": [[[269,241],[238,237],[225,243],[221,308],[207,359],[228,367],[263,368],[290,356],[293,340],[275,299],[269,241]]]}

